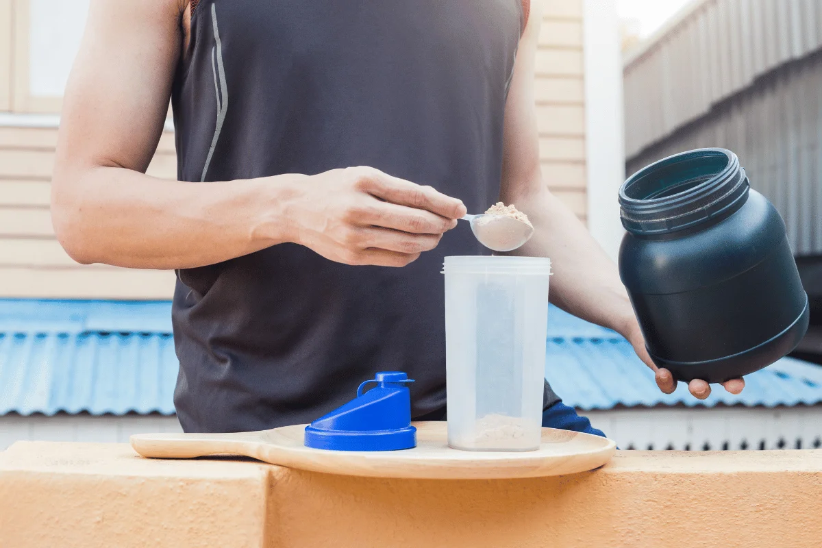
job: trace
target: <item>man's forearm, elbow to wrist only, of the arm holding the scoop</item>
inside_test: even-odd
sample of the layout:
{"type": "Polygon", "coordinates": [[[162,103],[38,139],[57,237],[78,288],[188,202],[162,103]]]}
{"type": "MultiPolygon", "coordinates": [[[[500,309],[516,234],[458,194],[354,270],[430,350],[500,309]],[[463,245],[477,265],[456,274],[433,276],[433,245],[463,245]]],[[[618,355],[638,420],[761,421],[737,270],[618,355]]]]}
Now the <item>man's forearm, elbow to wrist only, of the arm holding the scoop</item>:
{"type": "Polygon", "coordinates": [[[192,183],[125,168],[58,168],[53,224],[62,246],[81,263],[211,265],[286,241],[284,203],[302,177],[192,183]]]}

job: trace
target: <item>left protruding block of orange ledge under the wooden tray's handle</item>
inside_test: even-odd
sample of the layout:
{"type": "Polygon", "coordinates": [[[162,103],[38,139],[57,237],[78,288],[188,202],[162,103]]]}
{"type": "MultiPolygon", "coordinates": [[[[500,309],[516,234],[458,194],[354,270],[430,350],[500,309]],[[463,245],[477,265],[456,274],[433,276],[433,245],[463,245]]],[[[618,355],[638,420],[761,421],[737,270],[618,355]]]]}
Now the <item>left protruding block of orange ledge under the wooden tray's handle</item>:
{"type": "Polygon", "coordinates": [[[127,444],[18,442],[0,453],[0,546],[265,546],[268,477],[127,444]]]}

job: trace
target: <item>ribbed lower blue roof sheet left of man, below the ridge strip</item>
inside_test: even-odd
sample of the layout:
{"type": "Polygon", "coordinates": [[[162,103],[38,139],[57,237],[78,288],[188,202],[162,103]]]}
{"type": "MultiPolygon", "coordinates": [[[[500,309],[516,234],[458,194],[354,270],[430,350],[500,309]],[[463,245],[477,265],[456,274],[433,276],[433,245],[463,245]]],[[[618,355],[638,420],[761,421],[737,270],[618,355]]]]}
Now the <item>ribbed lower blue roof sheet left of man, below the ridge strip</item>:
{"type": "Polygon", "coordinates": [[[0,334],[0,415],[174,413],[171,334],[0,334]]]}

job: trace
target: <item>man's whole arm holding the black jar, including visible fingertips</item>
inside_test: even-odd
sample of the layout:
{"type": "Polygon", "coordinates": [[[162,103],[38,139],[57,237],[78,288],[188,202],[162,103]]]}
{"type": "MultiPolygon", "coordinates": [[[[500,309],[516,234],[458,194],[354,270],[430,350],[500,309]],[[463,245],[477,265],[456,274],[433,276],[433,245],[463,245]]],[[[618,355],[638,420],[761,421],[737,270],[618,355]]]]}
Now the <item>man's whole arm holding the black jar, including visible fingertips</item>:
{"type": "MultiPolygon", "coordinates": [[[[500,199],[528,214],[535,228],[531,240],[515,253],[551,257],[554,274],[551,302],[584,320],[614,329],[627,338],[642,361],[655,371],[659,389],[670,394],[676,389],[676,381],[670,371],[659,369],[651,361],[626,289],[619,279],[617,266],[576,215],[548,191],[543,181],[533,95],[543,6],[542,0],[531,2],[531,13],[520,39],[505,113],[500,199]]],[[[745,382],[741,379],[729,380],[724,386],[729,392],[738,394],[745,382]]],[[[691,381],[688,388],[696,398],[704,399],[710,394],[710,386],[703,380],[691,381]]]]}

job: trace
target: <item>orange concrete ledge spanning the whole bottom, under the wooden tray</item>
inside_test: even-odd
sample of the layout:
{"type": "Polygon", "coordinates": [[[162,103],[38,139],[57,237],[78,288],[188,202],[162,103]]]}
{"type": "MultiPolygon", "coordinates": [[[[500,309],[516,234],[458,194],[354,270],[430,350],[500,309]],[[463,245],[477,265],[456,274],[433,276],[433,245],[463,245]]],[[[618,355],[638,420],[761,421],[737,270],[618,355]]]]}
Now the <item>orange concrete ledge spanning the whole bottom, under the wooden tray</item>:
{"type": "Polygon", "coordinates": [[[0,453],[0,546],[822,545],[822,451],[622,452],[575,476],[335,477],[154,461],[127,445],[0,453]]]}

